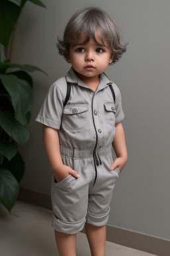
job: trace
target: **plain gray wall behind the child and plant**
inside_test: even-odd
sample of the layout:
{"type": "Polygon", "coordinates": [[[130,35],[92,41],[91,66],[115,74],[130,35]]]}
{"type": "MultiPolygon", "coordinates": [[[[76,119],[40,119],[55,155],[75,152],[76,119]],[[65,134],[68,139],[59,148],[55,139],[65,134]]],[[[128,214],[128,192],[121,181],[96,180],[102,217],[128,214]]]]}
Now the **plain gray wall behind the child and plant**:
{"type": "Polygon", "coordinates": [[[128,51],[106,73],[122,93],[129,159],[114,191],[109,224],[170,239],[170,2],[167,0],[44,1],[47,9],[27,3],[21,14],[13,61],[37,65],[35,101],[21,147],[26,161],[21,186],[50,195],[50,168],[42,146],[42,126],[34,119],[50,84],[70,65],[56,50],[69,17],[86,5],[103,7],[129,41],[128,51]]]}

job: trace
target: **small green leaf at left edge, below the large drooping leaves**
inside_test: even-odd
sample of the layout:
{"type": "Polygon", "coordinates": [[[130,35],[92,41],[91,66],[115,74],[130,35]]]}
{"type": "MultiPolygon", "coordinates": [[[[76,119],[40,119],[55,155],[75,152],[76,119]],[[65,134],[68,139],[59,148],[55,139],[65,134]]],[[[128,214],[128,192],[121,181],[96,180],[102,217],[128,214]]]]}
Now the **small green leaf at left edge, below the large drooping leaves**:
{"type": "Polygon", "coordinates": [[[0,153],[10,161],[17,154],[17,147],[13,143],[0,141],[0,153]]]}

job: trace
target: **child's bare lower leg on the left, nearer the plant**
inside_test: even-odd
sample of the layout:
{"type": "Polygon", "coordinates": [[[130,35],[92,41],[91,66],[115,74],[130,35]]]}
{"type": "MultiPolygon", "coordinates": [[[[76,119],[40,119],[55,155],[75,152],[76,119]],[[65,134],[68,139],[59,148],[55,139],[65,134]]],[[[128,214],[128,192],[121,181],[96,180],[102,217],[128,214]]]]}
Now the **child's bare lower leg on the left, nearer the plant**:
{"type": "Polygon", "coordinates": [[[55,232],[56,246],[60,256],[76,256],[76,234],[55,232]]]}

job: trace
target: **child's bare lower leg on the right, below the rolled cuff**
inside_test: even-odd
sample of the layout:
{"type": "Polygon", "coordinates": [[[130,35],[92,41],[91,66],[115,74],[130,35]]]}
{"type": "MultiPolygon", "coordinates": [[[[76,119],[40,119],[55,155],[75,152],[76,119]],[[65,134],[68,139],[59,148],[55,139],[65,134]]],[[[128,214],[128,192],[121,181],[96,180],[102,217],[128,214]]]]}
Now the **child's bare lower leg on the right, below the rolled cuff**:
{"type": "Polygon", "coordinates": [[[86,236],[90,245],[92,256],[106,255],[106,225],[96,227],[89,223],[85,224],[86,236]]]}

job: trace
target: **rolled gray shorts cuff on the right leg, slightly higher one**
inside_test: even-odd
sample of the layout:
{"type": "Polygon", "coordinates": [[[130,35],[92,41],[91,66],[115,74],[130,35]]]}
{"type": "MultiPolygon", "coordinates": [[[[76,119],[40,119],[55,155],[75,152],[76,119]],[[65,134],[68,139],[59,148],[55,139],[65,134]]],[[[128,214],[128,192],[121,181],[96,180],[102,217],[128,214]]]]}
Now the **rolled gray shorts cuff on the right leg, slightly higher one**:
{"type": "Polygon", "coordinates": [[[96,227],[102,227],[108,223],[109,212],[110,212],[110,207],[108,208],[108,211],[106,211],[106,213],[103,213],[100,215],[96,215],[88,211],[88,214],[86,216],[86,223],[89,223],[96,227]]]}

